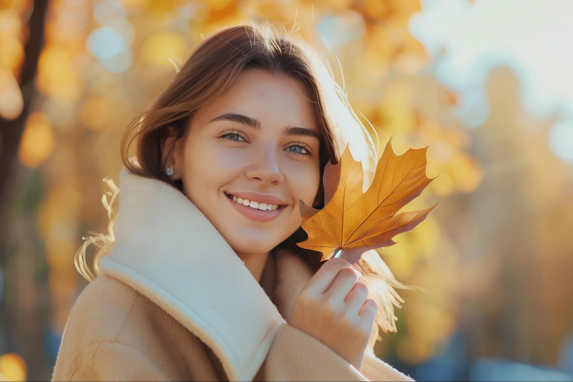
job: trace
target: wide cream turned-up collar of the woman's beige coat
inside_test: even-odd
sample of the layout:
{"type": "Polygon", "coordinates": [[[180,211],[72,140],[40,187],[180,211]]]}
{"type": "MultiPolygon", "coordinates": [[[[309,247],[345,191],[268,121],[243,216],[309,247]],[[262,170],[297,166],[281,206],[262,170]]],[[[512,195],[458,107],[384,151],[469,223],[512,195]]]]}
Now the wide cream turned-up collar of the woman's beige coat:
{"type": "MultiPolygon", "coordinates": [[[[282,296],[290,306],[282,306],[281,316],[210,220],[174,187],[123,167],[119,189],[115,244],[100,270],[150,298],[205,342],[230,380],[252,380],[295,296],[282,296]]],[[[291,267],[299,284],[280,289],[298,293],[312,273],[301,277],[303,261],[292,259],[277,264],[277,277],[289,278],[291,267]]]]}

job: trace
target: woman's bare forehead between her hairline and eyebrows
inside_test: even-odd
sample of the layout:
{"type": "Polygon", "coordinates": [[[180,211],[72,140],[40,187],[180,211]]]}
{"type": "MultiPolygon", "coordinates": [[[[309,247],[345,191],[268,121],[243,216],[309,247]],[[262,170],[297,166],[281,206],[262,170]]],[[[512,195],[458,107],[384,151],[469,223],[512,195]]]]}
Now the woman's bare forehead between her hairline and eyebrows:
{"type": "Polygon", "coordinates": [[[225,113],[240,113],[261,121],[262,128],[300,126],[319,132],[316,111],[304,82],[260,69],[246,69],[222,96],[203,109],[208,121],[225,113]]]}

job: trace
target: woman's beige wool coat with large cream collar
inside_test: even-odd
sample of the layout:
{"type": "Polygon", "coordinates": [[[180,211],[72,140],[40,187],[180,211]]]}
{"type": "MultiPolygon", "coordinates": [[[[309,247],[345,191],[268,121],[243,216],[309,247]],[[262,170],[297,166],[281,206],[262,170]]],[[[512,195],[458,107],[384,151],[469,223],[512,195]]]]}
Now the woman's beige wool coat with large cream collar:
{"type": "Polygon", "coordinates": [[[371,349],[358,371],[288,324],[312,277],[292,253],[258,283],[175,188],[124,167],[119,198],[113,251],[74,302],[52,380],[413,380],[371,349]]]}

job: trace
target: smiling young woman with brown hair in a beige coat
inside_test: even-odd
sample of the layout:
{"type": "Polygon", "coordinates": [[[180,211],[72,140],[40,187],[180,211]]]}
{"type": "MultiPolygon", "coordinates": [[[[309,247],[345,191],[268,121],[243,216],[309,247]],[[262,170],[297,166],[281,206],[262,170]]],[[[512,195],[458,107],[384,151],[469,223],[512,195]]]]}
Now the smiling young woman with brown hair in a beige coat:
{"type": "Polygon", "coordinates": [[[121,141],[117,225],[94,273],[78,251],[91,282],[52,380],[412,380],[372,351],[407,287],[376,251],[320,263],[296,245],[299,200],[324,207],[348,142],[376,163],[303,40],[240,25],[203,41],[121,141]]]}

